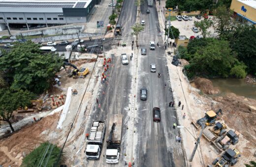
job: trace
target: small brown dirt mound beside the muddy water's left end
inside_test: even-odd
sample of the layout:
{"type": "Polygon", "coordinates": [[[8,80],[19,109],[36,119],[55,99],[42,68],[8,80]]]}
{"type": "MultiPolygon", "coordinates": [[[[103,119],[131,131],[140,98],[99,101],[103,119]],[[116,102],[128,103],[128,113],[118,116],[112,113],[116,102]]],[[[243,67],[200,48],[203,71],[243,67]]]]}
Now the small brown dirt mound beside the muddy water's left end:
{"type": "Polygon", "coordinates": [[[217,87],[213,86],[213,83],[210,80],[205,78],[196,78],[193,80],[196,88],[200,89],[206,94],[218,94],[220,90],[217,87]]]}

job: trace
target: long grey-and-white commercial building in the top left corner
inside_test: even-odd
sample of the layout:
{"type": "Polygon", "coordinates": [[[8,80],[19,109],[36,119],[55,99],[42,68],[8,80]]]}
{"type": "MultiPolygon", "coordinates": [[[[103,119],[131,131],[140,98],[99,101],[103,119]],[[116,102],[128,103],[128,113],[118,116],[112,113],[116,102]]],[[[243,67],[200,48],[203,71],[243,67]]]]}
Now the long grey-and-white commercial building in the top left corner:
{"type": "Polygon", "coordinates": [[[0,30],[87,22],[99,0],[0,0],[0,30]]]}

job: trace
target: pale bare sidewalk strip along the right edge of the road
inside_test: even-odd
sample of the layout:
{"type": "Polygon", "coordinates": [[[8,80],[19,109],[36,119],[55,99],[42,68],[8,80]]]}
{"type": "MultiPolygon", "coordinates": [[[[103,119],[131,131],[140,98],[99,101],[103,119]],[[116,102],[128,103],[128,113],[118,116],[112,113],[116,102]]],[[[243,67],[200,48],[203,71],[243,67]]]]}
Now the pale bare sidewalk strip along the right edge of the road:
{"type": "MultiPolygon", "coordinates": [[[[158,10],[158,17],[161,31],[164,31],[164,14],[163,14],[163,7],[165,6],[165,1],[157,1],[157,10],[158,10]],[[160,12],[159,12],[160,9],[160,12]]],[[[164,34],[162,35],[164,39],[164,34]]],[[[174,42],[174,40],[172,40],[174,42]]],[[[212,161],[211,152],[209,150],[208,143],[204,142],[204,139],[200,140],[200,144],[197,147],[197,151],[195,152],[194,158],[192,162],[189,162],[190,156],[192,154],[192,150],[194,147],[195,139],[199,135],[199,131],[196,131],[195,128],[192,126],[191,122],[196,121],[197,119],[203,117],[205,109],[205,104],[210,104],[209,99],[204,99],[204,102],[201,100],[197,100],[198,91],[197,89],[193,88],[187,77],[183,74],[182,69],[183,67],[176,67],[171,64],[172,56],[167,55],[167,52],[173,52],[172,47],[168,47],[165,51],[166,60],[167,60],[167,67],[170,76],[170,84],[173,91],[173,98],[175,101],[176,109],[177,109],[177,118],[178,118],[178,125],[184,126],[184,128],[180,128],[180,133],[182,137],[183,148],[185,152],[185,159],[187,161],[187,165],[191,167],[206,167],[204,157],[207,156],[207,161],[212,161]],[[177,104],[181,101],[181,107],[179,108],[177,104]],[[205,102],[207,101],[207,102],[205,102]],[[184,105],[184,109],[182,110],[182,105],[184,105]],[[183,119],[183,114],[186,114],[185,119],[183,119]],[[192,136],[193,135],[193,136],[192,136]],[[208,147],[208,149],[207,149],[208,147]],[[208,157],[209,155],[209,157],[208,157]]]]}

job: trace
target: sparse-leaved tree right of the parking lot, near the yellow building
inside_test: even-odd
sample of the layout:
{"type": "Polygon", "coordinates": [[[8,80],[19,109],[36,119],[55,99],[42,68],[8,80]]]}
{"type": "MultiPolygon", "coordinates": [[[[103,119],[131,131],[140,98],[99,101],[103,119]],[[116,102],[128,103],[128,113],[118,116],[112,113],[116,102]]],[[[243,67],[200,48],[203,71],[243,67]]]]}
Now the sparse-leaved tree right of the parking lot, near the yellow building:
{"type": "Polygon", "coordinates": [[[238,22],[231,17],[232,11],[222,5],[216,9],[215,15],[214,29],[219,33],[219,37],[224,40],[232,40],[233,33],[239,27],[238,22]]]}

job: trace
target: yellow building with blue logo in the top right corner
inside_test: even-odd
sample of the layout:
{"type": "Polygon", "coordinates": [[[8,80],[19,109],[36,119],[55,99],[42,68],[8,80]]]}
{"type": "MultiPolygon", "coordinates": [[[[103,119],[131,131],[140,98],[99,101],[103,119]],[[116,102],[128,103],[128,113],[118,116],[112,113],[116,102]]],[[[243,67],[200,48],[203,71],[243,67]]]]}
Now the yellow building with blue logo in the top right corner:
{"type": "Polygon", "coordinates": [[[256,26],[256,0],[232,0],[230,9],[242,21],[256,26]]]}

